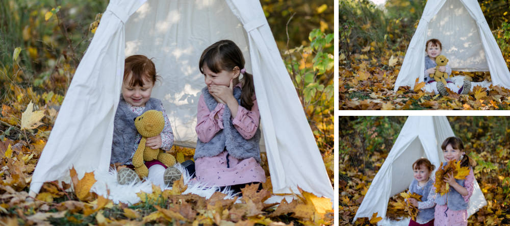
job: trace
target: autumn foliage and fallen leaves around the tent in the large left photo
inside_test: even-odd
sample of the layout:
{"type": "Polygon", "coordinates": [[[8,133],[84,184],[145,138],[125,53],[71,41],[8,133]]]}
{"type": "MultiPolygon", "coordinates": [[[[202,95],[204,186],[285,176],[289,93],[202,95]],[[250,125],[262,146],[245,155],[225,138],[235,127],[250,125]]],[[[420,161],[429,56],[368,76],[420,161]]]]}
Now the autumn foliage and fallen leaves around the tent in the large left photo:
{"type": "MultiPolygon", "coordinates": [[[[282,31],[286,26],[289,28],[291,44],[287,52],[282,52],[282,58],[333,184],[334,72],[333,34],[329,29],[333,22],[328,20],[333,18],[333,6],[326,2],[293,1],[295,5],[289,5],[268,0],[263,1],[263,9],[273,31],[277,31],[275,39],[280,49],[286,49],[287,36],[282,31]],[[294,12],[301,16],[286,25],[294,12]]],[[[35,0],[0,3],[0,222],[7,225],[333,224],[331,200],[305,191],[294,191],[297,198],[290,203],[264,204],[273,195],[269,178],[261,192],[255,192],[256,187],[244,189],[237,203],[236,199],[223,199],[219,192],[209,199],[183,195],[186,185],[180,181],[172,190],[153,187],[152,193],[140,192],[137,195],[142,202],[128,206],[113,204],[91,193],[90,187],[95,182],[93,172],[79,178],[71,169],[70,184],[45,183],[36,200],[28,198],[35,165],[99,22],[97,13],[107,6],[107,2],[97,0],[53,4],[53,1],[35,0]]],[[[193,157],[194,149],[173,147],[171,153],[183,162],[193,157]]],[[[269,175],[265,154],[262,159],[261,165],[269,175]]]]}

